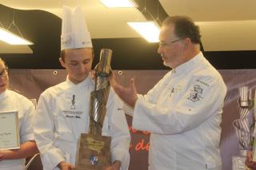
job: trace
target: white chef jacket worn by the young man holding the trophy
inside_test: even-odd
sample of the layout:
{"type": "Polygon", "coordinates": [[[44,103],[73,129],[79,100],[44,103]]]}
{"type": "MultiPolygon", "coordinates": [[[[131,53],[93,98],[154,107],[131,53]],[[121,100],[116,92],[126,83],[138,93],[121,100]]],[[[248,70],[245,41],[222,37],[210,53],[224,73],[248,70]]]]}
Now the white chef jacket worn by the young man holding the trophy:
{"type": "MultiPolygon", "coordinates": [[[[94,81],[88,76],[74,85],[66,81],[43,92],[34,120],[34,136],[45,170],[59,169],[61,161],[75,164],[77,142],[90,125],[90,92],[94,81]]],[[[121,160],[122,169],[130,162],[130,132],[122,110],[122,102],[110,89],[102,136],[111,136],[111,159],[121,160]]]]}

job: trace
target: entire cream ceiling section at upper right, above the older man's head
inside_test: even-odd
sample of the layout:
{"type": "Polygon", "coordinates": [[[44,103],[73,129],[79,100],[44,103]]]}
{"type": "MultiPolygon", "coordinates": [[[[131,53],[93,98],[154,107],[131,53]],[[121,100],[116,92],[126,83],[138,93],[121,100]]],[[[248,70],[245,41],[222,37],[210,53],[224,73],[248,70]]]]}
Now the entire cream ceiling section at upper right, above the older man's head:
{"type": "Polygon", "coordinates": [[[256,1],[160,0],[167,14],[198,23],[205,51],[256,50],[256,1]]]}

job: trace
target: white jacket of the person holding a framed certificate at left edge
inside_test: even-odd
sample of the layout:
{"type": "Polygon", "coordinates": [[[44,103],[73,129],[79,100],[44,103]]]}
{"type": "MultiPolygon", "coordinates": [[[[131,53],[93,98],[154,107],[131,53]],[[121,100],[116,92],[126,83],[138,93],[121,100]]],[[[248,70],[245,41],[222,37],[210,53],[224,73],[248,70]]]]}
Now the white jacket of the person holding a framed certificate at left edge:
{"type": "MultiPolygon", "coordinates": [[[[35,109],[32,101],[19,93],[6,89],[0,94],[0,112],[6,111],[18,111],[20,143],[34,140],[32,125],[35,109]]],[[[24,164],[25,159],[2,160],[0,161],[0,170],[21,170],[24,168],[24,164]]]]}

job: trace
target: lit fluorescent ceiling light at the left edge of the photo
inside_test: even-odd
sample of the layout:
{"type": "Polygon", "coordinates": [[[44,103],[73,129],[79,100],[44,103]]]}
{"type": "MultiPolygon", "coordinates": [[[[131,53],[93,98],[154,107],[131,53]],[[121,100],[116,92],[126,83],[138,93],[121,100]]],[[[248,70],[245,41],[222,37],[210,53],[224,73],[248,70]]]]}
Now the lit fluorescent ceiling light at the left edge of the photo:
{"type": "Polygon", "coordinates": [[[18,35],[11,33],[9,30],[3,29],[1,27],[0,40],[2,40],[3,42],[7,42],[10,45],[33,45],[33,42],[19,37],[18,35]]]}

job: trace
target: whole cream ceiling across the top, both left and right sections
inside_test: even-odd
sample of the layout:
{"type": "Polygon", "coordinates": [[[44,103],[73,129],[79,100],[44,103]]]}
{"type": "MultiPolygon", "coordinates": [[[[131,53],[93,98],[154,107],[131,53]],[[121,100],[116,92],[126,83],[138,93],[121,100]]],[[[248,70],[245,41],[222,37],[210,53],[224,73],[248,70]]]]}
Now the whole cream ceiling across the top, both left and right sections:
{"type": "MultiPolygon", "coordinates": [[[[146,0],[150,1],[150,0],[146,0]]],[[[20,10],[46,10],[62,17],[62,6],[81,6],[92,38],[137,38],[126,25],[145,21],[137,9],[107,9],[98,0],[0,0],[20,10]]],[[[193,18],[206,51],[256,50],[255,0],[160,0],[169,15],[193,18]]]]}

